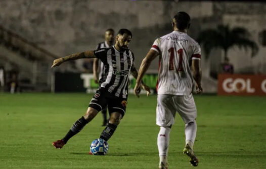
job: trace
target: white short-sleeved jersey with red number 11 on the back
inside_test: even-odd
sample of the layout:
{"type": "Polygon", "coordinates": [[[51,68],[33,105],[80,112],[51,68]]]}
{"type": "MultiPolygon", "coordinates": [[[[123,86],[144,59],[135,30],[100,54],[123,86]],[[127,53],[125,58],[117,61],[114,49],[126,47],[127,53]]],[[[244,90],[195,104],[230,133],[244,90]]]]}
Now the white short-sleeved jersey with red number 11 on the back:
{"type": "Polygon", "coordinates": [[[190,95],[193,90],[191,61],[201,59],[200,46],[187,33],[173,31],[156,39],[151,48],[160,54],[158,94],[190,95]]]}

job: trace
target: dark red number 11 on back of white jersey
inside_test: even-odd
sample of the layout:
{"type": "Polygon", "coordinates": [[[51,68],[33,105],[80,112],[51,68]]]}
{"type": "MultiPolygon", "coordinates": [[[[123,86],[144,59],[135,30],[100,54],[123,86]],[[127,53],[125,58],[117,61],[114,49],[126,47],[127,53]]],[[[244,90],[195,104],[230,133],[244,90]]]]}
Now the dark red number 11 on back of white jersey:
{"type": "MultiPolygon", "coordinates": [[[[169,70],[174,70],[174,53],[176,49],[171,47],[168,49],[168,52],[170,53],[170,58],[169,58],[169,70]]],[[[179,49],[176,51],[178,56],[179,56],[179,66],[178,66],[178,71],[183,71],[183,49],[179,49]]]]}

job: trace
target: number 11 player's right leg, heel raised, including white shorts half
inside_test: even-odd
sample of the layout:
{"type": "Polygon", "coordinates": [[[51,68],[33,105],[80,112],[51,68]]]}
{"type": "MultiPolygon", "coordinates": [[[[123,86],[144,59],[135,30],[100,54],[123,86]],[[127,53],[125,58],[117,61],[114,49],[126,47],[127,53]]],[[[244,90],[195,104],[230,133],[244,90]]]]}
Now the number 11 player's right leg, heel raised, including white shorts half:
{"type": "Polygon", "coordinates": [[[197,133],[197,109],[192,95],[175,96],[175,105],[182,119],[185,122],[186,144],[183,152],[190,157],[190,163],[193,166],[198,165],[198,159],[193,151],[193,145],[197,133]]]}

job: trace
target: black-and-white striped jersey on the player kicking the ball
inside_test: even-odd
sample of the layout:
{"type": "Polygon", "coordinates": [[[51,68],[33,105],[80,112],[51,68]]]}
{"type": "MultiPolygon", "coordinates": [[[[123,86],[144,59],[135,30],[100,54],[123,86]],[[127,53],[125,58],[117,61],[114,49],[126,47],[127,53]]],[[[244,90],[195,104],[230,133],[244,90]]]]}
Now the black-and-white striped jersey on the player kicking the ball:
{"type": "Polygon", "coordinates": [[[127,98],[128,78],[134,63],[134,54],[129,49],[119,52],[114,46],[95,50],[94,54],[101,59],[107,71],[106,80],[100,87],[116,97],[127,98]]]}

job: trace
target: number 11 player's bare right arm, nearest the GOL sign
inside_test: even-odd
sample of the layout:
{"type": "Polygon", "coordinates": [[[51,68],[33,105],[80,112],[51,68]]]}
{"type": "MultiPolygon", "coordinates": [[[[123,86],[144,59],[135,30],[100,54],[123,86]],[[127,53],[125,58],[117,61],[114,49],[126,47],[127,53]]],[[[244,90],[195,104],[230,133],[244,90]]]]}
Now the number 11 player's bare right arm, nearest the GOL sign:
{"type": "Polygon", "coordinates": [[[202,94],[203,90],[201,87],[201,63],[200,60],[195,59],[192,60],[192,72],[193,72],[193,77],[196,81],[196,94],[202,94]]]}

